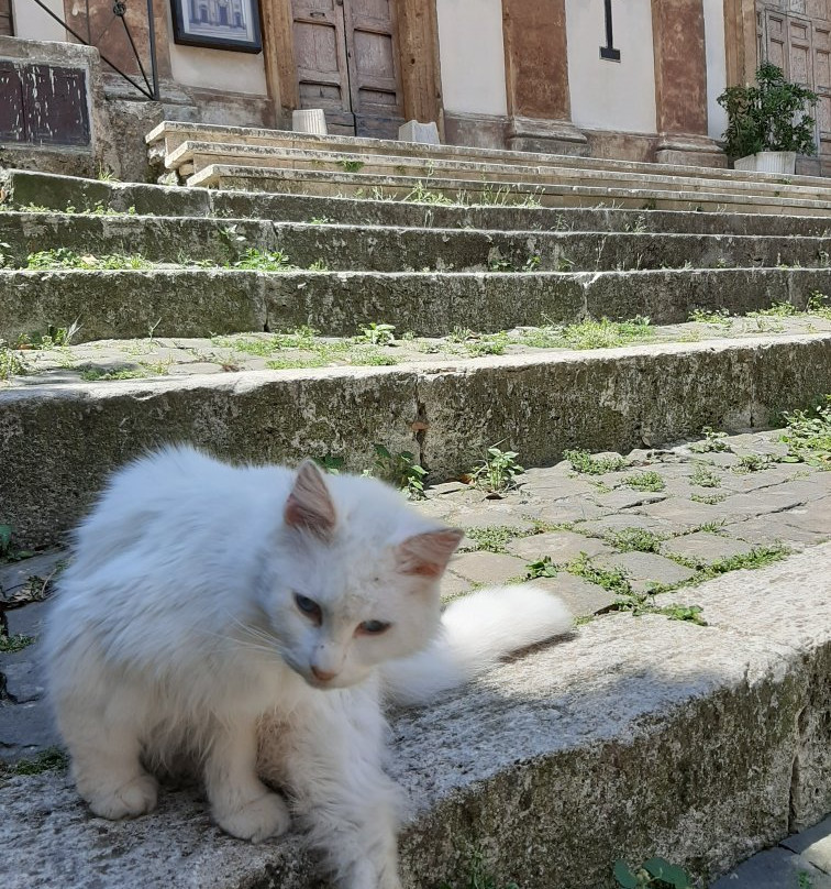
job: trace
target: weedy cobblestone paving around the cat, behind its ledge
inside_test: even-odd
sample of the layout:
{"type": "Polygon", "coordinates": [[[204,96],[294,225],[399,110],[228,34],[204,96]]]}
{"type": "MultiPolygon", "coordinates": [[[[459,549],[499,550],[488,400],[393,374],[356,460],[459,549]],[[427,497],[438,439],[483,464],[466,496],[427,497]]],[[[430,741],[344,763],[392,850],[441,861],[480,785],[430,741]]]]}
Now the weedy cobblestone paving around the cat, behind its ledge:
{"type": "MultiPolygon", "coordinates": [[[[419,507],[466,531],[443,596],[536,577],[584,621],[619,608],[706,621],[708,603],[695,595],[699,580],[831,539],[831,472],[783,462],[794,458],[780,435],[710,433],[625,458],[572,454],[518,474],[503,493],[465,481],[429,487],[419,507]],[[685,604],[676,607],[674,595],[685,604]]],[[[0,760],[24,760],[12,769],[59,762],[49,755],[57,738],[43,701],[37,647],[26,643],[40,634],[47,580],[63,557],[53,551],[0,566],[4,647],[20,647],[0,651],[0,760]]],[[[813,841],[805,847],[787,841],[752,859],[762,863],[754,865],[761,871],[739,868],[718,889],[831,889],[830,830],[829,822],[816,828],[824,831],[826,839],[816,841],[821,856],[813,841]]]]}

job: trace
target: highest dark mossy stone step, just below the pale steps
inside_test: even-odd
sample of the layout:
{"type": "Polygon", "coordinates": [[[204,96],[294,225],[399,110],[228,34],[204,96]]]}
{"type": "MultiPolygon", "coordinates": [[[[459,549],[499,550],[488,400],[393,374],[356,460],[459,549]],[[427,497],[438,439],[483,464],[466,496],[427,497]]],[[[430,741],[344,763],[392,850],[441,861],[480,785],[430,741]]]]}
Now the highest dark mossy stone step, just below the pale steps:
{"type": "MultiPolygon", "coordinates": [[[[70,176],[7,171],[0,207],[46,207],[77,212],[140,216],[215,216],[340,224],[473,228],[509,231],[650,231],[690,234],[761,234],[827,238],[824,217],[697,211],[625,210],[611,207],[549,208],[517,206],[516,195],[502,195],[488,206],[373,200],[314,195],[223,191],[132,183],[107,183],[70,176]]],[[[641,201],[641,205],[643,201],[641,201]]]]}

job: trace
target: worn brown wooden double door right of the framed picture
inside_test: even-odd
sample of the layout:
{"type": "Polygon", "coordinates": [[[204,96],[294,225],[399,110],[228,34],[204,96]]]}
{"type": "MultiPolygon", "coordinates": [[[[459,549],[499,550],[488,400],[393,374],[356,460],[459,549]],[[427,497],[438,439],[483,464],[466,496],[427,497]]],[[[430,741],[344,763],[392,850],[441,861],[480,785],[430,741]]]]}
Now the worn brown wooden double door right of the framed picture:
{"type": "Polygon", "coordinates": [[[403,98],[394,0],[292,0],[300,108],[329,131],[395,139],[403,98]]]}

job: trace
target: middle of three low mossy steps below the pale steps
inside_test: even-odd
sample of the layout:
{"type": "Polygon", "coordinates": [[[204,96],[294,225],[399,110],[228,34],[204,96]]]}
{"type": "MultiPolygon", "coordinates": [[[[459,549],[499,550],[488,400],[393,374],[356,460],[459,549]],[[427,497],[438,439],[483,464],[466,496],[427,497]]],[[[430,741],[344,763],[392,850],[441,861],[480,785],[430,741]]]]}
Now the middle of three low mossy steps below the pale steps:
{"type": "Polygon", "coordinates": [[[375,272],[824,267],[831,246],[827,238],[806,235],[502,232],[15,211],[0,215],[0,243],[7,268],[25,268],[31,254],[48,248],[215,266],[240,262],[251,250],[280,251],[298,267],[375,272]]]}

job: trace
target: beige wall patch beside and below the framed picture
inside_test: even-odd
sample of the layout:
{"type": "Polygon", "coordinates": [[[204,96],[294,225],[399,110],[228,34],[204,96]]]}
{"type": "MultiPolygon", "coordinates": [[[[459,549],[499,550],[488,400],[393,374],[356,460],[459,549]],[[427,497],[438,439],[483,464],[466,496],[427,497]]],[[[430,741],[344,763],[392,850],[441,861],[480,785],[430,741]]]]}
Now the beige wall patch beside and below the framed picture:
{"type": "Polygon", "coordinates": [[[167,26],[170,33],[170,67],[174,80],[189,87],[225,89],[230,92],[250,92],[256,96],[265,96],[268,92],[263,53],[255,55],[226,50],[203,50],[199,46],[180,46],[174,43],[169,3],[167,26]]]}

